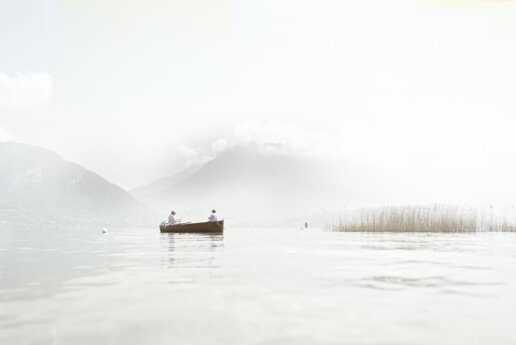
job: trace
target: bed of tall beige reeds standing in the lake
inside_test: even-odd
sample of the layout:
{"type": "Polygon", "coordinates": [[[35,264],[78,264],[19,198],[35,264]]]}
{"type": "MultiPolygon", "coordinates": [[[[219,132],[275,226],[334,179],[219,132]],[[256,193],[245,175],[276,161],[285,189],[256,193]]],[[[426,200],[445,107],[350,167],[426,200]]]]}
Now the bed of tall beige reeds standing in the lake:
{"type": "Polygon", "coordinates": [[[335,231],[344,232],[479,232],[515,231],[516,218],[493,210],[460,206],[397,206],[348,210],[335,231]]]}

